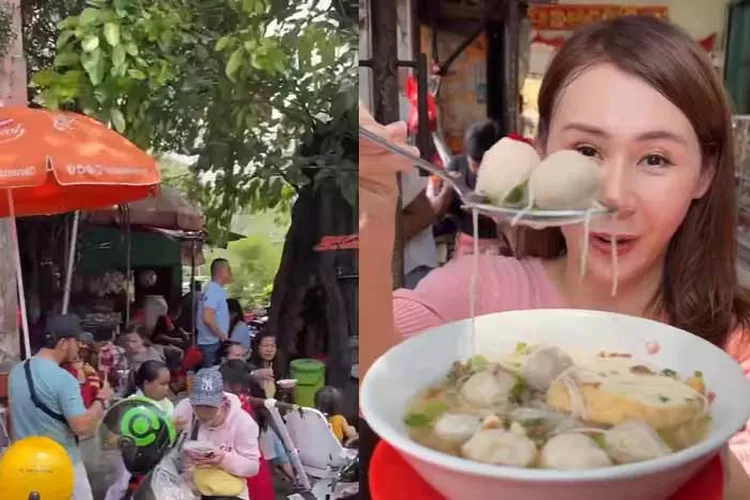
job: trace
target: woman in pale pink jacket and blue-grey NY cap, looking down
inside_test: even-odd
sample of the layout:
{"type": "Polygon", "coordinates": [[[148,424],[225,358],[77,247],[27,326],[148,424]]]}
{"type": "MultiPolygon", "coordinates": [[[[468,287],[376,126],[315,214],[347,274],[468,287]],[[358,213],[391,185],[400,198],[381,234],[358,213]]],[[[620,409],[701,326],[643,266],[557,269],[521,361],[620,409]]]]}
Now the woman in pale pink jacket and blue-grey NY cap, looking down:
{"type": "Polygon", "coordinates": [[[250,500],[246,480],[258,473],[260,449],[258,425],[248,415],[234,394],[224,392],[224,381],[216,368],[195,374],[190,397],[174,410],[175,420],[182,422],[191,440],[211,443],[215,450],[208,456],[186,451],[190,466],[216,467],[242,479],[242,492],[236,497],[250,500]]]}

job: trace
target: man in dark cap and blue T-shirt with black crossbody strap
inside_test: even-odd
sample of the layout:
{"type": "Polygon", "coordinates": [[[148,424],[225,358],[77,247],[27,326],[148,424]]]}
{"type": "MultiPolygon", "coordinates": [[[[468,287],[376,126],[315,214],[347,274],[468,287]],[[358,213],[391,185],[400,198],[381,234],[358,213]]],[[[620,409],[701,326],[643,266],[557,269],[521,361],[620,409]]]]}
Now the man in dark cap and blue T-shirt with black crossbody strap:
{"type": "Polygon", "coordinates": [[[78,380],[60,367],[78,358],[81,322],[75,315],[51,316],[36,356],[13,367],[8,381],[16,439],[47,436],[60,443],[75,468],[73,500],[93,500],[78,437],[90,435],[104,414],[112,389],[105,385],[86,410],[78,380]]]}

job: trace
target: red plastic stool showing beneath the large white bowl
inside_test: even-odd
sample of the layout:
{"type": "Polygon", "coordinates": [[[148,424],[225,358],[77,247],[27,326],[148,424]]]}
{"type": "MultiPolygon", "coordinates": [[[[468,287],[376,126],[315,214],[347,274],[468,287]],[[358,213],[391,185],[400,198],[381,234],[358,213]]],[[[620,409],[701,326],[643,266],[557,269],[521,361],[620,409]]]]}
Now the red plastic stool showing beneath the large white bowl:
{"type": "MultiPolygon", "coordinates": [[[[370,462],[372,500],[444,500],[401,455],[381,441],[370,462]]],[[[722,500],[724,473],[717,455],[670,500],[722,500]]]]}

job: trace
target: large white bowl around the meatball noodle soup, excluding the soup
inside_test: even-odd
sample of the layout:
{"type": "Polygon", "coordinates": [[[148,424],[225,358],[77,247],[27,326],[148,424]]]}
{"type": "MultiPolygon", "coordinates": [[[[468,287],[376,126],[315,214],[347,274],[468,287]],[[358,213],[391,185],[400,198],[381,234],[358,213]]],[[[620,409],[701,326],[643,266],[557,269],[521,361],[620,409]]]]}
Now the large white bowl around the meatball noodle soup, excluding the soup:
{"type": "Polygon", "coordinates": [[[399,450],[448,500],[664,500],[676,492],[742,429],[750,417],[750,383],[729,355],[699,337],[631,316],[572,309],[538,309],[476,318],[479,351],[507,354],[518,342],[548,343],[571,352],[628,352],[683,375],[703,372],[716,394],[708,437],[664,458],[584,471],[482,464],[412,441],[403,423],[407,403],[444,377],[468,353],[471,320],[446,324],[402,342],[367,372],[361,408],[371,428],[399,450]],[[655,345],[658,352],[653,353],[655,345]]]}

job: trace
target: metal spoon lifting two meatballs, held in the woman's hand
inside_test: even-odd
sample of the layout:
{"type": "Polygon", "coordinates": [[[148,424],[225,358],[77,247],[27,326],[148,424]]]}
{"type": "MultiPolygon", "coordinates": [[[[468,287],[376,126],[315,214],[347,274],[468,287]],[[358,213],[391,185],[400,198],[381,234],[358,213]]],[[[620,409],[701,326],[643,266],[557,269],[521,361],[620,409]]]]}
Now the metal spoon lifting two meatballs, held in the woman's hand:
{"type": "Polygon", "coordinates": [[[486,196],[469,189],[461,179],[456,179],[448,174],[447,170],[439,168],[432,163],[423,160],[404,148],[383,139],[379,135],[359,127],[359,135],[368,141],[372,141],[383,148],[414,162],[415,166],[426,170],[430,174],[439,177],[448,184],[458,195],[465,210],[476,210],[482,215],[503,221],[513,221],[517,225],[530,226],[535,229],[545,227],[560,227],[568,224],[578,224],[586,220],[586,217],[597,217],[612,215],[614,210],[604,206],[596,206],[589,210],[522,210],[518,207],[504,207],[493,205],[486,196]]]}

